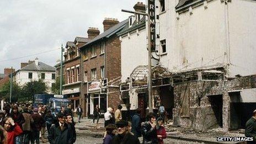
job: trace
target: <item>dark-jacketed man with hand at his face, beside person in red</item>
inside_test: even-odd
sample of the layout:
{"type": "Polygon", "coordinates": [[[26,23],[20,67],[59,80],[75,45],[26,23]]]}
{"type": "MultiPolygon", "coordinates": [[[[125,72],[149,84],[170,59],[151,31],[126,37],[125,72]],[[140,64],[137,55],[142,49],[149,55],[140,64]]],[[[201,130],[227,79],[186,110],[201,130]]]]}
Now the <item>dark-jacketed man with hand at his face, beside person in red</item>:
{"type": "Polygon", "coordinates": [[[143,143],[157,144],[156,115],[148,113],[147,120],[141,126],[143,143]]]}

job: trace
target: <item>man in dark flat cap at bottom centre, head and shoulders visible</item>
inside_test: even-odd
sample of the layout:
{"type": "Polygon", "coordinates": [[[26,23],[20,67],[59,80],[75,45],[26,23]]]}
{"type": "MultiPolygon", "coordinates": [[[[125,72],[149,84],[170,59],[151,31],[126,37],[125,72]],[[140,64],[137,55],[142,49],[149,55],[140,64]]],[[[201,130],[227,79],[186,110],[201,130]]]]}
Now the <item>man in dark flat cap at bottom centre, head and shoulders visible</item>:
{"type": "Polygon", "coordinates": [[[140,141],[137,137],[129,132],[128,122],[125,120],[120,120],[116,122],[116,127],[118,127],[118,135],[115,135],[111,144],[140,144],[140,141]]]}

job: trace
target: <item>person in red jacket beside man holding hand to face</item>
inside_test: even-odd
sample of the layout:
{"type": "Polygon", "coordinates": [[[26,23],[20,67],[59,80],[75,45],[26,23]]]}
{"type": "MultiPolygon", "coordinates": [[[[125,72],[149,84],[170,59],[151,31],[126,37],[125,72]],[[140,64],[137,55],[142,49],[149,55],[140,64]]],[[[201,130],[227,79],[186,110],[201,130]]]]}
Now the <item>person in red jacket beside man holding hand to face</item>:
{"type": "Polygon", "coordinates": [[[163,118],[162,117],[159,117],[157,119],[156,129],[157,129],[158,143],[163,144],[163,139],[166,138],[167,135],[166,135],[166,129],[164,129],[164,127],[163,127],[163,118]]]}

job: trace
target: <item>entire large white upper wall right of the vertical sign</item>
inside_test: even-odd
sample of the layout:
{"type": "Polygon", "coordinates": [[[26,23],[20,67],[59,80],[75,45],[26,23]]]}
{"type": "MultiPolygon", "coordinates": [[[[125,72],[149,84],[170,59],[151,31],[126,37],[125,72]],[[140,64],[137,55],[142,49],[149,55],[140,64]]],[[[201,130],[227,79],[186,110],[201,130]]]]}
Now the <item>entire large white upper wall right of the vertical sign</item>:
{"type": "Polygon", "coordinates": [[[209,2],[206,9],[204,6],[196,7],[193,14],[181,13],[179,20],[175,12],[177,3],[166,1],[166,12],[159,15],[159,40],[166,39],[167,43],[167,55],[162,55],[160,60],[162,65],[172,72],[225,65],[230,52],[229,76],[256,73],[255,1],[228,3],[229,25],[226,5],[221,1],[209,2]]]}

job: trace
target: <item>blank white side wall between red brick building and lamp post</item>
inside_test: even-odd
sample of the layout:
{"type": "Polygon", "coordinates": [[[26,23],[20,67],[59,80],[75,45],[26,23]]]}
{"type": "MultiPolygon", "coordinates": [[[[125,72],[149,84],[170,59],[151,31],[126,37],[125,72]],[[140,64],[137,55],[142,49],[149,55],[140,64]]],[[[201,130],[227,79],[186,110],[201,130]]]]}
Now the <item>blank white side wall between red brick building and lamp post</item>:
{"type": "Polygon", "coordinates": [[[147,65],[146,30],[121,38],[121,81],[130,77],[132,71],[140,65],[147,65]]]}

